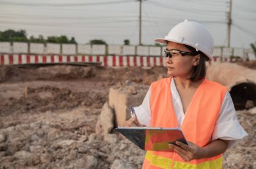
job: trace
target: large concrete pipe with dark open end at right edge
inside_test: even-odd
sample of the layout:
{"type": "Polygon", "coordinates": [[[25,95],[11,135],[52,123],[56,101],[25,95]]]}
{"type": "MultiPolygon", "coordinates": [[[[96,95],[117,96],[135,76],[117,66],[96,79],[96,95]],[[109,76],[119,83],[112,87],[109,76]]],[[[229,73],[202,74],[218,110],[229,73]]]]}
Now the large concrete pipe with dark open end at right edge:
{"type": "Polygon", "coordinates": [[[207,78],[228,87],[236,110],[256,105],[256,70],[237,64],[222,63],[207,68],[207,78]]]}

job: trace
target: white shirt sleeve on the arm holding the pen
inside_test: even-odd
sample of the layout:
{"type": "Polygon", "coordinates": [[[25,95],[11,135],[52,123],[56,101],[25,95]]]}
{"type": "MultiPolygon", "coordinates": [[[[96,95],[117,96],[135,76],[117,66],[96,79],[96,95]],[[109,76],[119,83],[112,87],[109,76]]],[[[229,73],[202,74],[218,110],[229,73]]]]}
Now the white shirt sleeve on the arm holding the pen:
{"type": "Polygon", "coordinates": [[[141,105],[138,107],[134,107],[136,117],[142,125],[146,125],[147,127],[150,127],[150,121],[151,121],[151,110],[150,110],[150,89],[148,90],[146,97],[144,98],[141,105]]]}

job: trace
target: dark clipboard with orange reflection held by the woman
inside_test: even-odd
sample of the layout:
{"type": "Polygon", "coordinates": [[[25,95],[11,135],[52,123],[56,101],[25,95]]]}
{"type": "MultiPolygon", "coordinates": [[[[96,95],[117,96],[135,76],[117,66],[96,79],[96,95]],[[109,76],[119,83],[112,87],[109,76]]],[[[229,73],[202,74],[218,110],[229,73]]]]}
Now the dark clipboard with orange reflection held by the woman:
{"type": "Polygon", "coordinates": [[[127,137],[141,150],[173,152],[168,144],[175,144],[177,141],[187,144],[187,140],[179,128],[118,127],[115,130],[127,137]]]}

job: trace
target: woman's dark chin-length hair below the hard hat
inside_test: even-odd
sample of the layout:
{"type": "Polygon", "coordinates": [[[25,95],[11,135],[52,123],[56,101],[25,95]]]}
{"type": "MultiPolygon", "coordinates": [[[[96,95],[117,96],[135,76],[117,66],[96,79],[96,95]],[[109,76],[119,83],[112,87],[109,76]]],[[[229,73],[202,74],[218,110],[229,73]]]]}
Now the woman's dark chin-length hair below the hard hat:
{"type": "Polygon", "coordinates": [[[191,80],[192,82],[197,82],[199,80],[202,80],[203,78],[205,78],[205,74],[206,74],[205,61],[209,60],[209,58],[205,56],[203,52],[197,51],[195,50],[195,48],[191,46],[188,46],[188,45],[184,45],[184,46],[191,52],[200,54],[199,64],[193,67],[193,73],[192,73],[192,76],[189,78],[189,80],[191,80]]]}

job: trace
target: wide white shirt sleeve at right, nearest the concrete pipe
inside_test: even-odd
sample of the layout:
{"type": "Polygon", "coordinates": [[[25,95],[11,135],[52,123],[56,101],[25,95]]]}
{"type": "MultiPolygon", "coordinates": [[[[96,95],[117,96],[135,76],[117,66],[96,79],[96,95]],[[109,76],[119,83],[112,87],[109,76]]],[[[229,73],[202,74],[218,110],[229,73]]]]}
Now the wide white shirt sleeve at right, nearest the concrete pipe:
{"type": "Polygon", "coordinates": [[[236,111],[230,93],[227,91],[226,96],[222,102],[220,109],[220,115],[214,127],[212,134],[212,140],[226,139],[230,140],[228,148],[233,147],[243,137],[247,136],[247,133],[238,122],[236,117],[236,111]]]}

